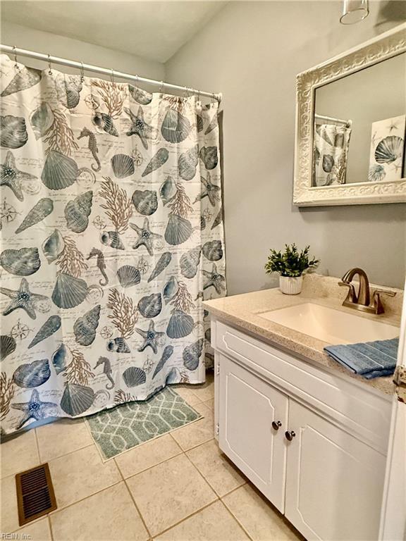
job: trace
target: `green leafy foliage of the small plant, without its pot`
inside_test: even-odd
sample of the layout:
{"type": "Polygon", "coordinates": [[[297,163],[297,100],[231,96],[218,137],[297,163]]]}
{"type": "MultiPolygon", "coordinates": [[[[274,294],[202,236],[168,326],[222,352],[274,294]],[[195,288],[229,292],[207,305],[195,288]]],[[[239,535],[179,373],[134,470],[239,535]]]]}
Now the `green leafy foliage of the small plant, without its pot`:
{"type": "Polygon", "coordinates": [[[278,273],[281,276],[297,278],[306,270],[316,268],[320,260],[314,257],[309,259],[309,249],[307,246],[299,252],[296,244],[285,244],[285,251],[271,249],[265,264],[266,274],[278,273]]]}

